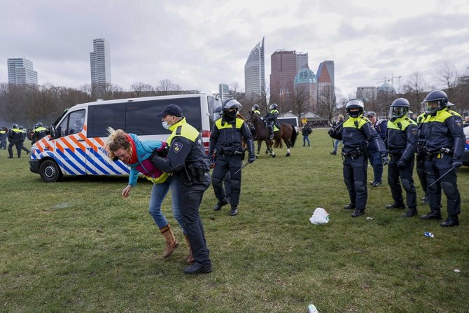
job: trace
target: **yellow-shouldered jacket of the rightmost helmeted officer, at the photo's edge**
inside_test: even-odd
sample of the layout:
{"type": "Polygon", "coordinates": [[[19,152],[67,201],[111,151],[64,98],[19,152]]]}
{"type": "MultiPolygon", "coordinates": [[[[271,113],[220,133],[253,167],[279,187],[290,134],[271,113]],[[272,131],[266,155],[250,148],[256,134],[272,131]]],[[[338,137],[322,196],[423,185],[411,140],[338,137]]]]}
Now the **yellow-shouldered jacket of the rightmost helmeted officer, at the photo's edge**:
{"type": "Polygon", "coordinates": [[[436,152],[440,148],[449,148],[455,158],[464,154],[465,135],[461,116],[444,108],[435,114],[428,114],[423,120],[423,136],[428,152],[436,152]]]}

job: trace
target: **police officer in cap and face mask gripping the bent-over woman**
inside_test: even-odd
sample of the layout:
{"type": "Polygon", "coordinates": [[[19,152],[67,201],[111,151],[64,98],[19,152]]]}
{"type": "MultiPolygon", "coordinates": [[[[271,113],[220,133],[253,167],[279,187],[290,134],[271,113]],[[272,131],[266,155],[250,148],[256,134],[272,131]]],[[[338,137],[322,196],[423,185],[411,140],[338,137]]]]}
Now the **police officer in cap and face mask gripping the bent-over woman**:
{"type": "Polygon", "coordinates": [[[167,158],[153,153],[151,161],[155,167],[166,173],[181,176],[179,203],[181,215],[195,262],[187,267],[186,274],[212,271],[209,249],[205,241],[204,226],[199,215],[199,206],[204,191],[210,185],[209,161],[204,151],[202,136],[183,117],[183,111],[176,104],[169,104],[157,114],[162,125],[172,134],[167,139],[167,158]]]}

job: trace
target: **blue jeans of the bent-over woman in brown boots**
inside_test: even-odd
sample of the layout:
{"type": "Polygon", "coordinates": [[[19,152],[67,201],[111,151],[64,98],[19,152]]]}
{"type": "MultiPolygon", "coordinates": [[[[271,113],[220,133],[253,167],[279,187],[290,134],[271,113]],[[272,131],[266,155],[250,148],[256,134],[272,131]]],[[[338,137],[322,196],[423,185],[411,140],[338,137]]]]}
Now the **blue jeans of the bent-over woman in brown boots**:
{"type": "Polygon", "coordinates": [[[179,176],[169,176],[164,183],[154,183],[153,188],[151,188],[150,195],[150,215],[153,217],[158,228],[163,228],[168,225],[168,221],[164,214],[161,211],[161,204],[171,188],[171,197],[172,197],[172,207],[173,207],[173,216],[179,225],[183,233],[186,234],[183,228],[183,220],[181,216],[181,207],[179,207],[179,193],[181,190],[181,180],[179,176]]]}

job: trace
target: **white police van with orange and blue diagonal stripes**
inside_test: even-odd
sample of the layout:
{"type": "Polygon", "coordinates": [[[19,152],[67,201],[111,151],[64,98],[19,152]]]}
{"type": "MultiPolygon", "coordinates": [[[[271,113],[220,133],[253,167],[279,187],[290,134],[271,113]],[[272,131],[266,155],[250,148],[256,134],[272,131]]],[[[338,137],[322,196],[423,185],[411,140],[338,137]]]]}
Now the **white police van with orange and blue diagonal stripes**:
{"type": "Polygon", "coordinates": [[[170,132],[156,114],[168,104],[177,104],[183,116],[202,134],[206,151],[213,126],[213,111],[221,99],[205,94],[142,97],[77,104],[50,125],[50,135],[31,147],[29,169],[43,181],[63,175],[128,174],[123,162],[107,157],[104,141],[107,127],[137,134],[141,140],[165,141],[170,132]]]}

